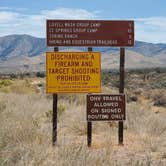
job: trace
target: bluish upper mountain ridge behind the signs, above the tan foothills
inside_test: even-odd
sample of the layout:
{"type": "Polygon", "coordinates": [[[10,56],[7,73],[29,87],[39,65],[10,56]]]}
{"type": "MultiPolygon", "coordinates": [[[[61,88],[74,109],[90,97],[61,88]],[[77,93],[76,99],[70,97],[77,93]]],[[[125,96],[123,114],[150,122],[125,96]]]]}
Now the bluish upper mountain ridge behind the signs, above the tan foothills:
{"type": "MultiPolygon", "coordinates": [[[[66,47],[60,47],[66,49],[66,47]]],[[[70,48],[70,47],[68,47],[70,48]]],[[[45,38],[37,38],[30,35],[8,35],[0,37],[0,59],[6,59],[13,56],[36,56],[50,50],[46,46],[45,38]]],[[[83,47],[77,47],[78,50],[86,50],[83,47]]],[[[166,44],[153,44],[142,41],[136,41],[135,46],[127,48],[128,50],[142,54],[144,56],[157,56],[166,54],[166,44]]],[[[94,51],[115,52],[115,47],[94,47],[94,51]]]]}

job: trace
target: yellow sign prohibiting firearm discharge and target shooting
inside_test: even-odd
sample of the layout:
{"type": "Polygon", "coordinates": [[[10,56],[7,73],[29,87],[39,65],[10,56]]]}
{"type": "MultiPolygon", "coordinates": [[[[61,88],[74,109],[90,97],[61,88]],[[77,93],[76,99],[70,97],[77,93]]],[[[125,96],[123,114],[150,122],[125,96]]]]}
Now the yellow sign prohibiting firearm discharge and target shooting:
{"type": "Polygon", "coordinates": [[[101,92],[99,52],[47,52],[47,93],[101,92]]]}

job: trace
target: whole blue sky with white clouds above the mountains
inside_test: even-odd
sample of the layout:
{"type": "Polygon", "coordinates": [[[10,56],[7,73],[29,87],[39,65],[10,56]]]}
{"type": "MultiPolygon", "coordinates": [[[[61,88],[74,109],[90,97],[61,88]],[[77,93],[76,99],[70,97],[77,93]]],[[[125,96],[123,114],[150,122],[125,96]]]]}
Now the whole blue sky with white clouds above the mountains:
{"type": "Polygon", "coordinates": [[[46,19],[132,19],[136,40],[166,43],[166,0],[0,0],[0,36],[45,37],[46,19]]]}

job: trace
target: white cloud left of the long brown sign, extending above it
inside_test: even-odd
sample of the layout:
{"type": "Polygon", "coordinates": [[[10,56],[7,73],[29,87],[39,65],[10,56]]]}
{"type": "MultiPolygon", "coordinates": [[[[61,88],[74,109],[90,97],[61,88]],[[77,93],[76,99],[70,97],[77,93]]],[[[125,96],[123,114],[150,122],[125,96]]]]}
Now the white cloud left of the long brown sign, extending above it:
{"type": "Polygon", "coordinates": [[[46,19],[95,19],[96,12],[84,9],[57,8],[42,10],[36,15],[24,15],[19,12],[0,11],[0,36],[9,34],[30,34],[46,36],[46,19]]]}

